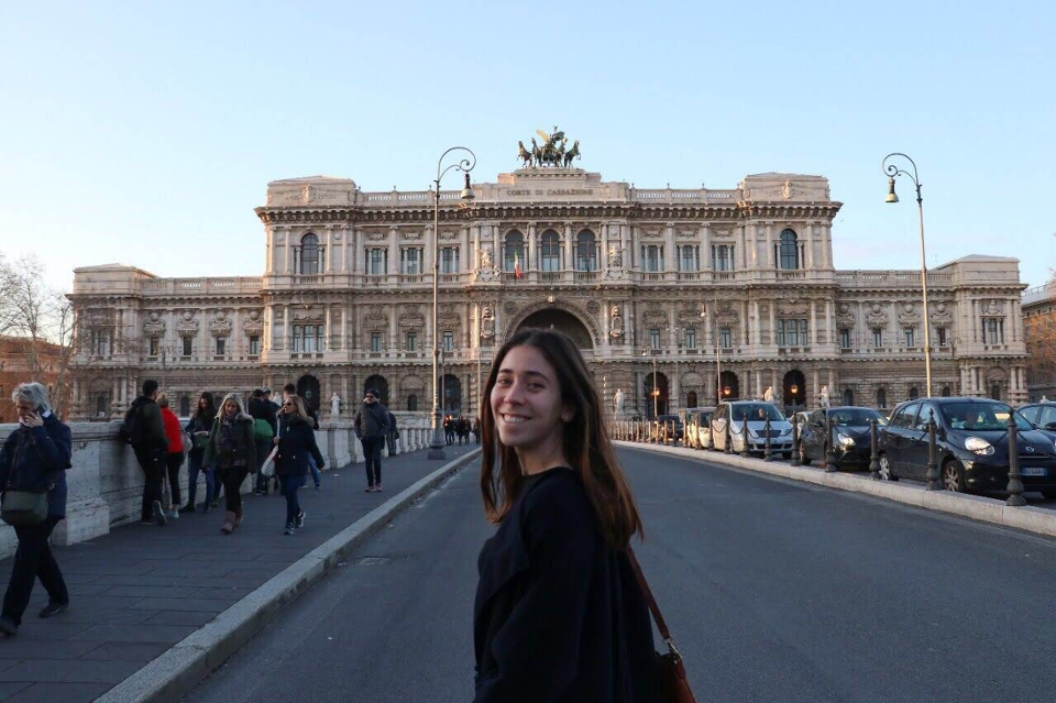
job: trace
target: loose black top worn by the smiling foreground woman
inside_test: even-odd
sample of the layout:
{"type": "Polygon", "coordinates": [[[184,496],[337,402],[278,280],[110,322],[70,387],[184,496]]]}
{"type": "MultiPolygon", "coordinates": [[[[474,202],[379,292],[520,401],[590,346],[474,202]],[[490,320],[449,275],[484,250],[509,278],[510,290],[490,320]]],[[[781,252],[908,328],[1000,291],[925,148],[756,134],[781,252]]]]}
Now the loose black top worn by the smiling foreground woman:
{"type": "Polygon", "coordinates": [[[572,470],[526,479],[477,565],[477,703],[654,700],[648,606],[572,470]]]}

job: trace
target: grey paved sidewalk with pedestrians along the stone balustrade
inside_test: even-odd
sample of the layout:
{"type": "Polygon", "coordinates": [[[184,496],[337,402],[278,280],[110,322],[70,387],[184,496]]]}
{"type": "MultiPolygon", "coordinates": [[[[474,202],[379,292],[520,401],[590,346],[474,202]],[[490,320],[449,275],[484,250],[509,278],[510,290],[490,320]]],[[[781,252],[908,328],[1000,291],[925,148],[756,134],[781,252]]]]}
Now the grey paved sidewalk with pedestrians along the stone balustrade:
{"type": "MultiPolygon", "coordinates": [[[[182,515],[166,527],[130,525],[73,547],[56,548],[70,608],[42,620],[37,583],[14,637],[0,635],[0,701],[92,701],[243,596],[395,494],[476,449],[447,448],[384,459],[384,493],[364,493],[363,464],[322,474],[322,490],[299,493],[302,529],[283,535],[286,501],[243,496],[245,521],[220,532],[223,502],[208,515],[182,515]]],[[[0,562],[7,585],[11,560],[0,562]]]]}

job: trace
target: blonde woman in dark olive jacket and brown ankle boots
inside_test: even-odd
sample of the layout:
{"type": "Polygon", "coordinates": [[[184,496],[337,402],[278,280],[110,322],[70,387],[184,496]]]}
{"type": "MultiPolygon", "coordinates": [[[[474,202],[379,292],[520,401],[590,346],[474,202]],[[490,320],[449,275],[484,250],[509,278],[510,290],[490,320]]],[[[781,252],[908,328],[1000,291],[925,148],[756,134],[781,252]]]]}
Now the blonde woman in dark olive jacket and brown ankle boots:
{"type": "Polygon", "coordinates": [[[253,417],[234,393],[226,395],[220,404],[220,415],[212,425],[202,461],[216,462],[217,476],[223,482],[227,512],[220,530],[230,535],[242,524],[242,482],[250,469],[256,466],[253,417]]]}

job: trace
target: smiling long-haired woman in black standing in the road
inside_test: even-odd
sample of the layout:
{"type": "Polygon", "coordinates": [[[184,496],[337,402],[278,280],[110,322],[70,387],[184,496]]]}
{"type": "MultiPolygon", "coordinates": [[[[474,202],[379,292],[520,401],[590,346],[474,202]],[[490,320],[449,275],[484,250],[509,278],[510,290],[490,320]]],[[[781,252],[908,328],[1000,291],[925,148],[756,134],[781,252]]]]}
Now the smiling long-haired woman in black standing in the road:
{"type": "Polygon", "coordinates": [[[477,703],[656,701],[652,625],[628,557],[641,519],[570,338],[526,330],[484,388],[477,703]]]}

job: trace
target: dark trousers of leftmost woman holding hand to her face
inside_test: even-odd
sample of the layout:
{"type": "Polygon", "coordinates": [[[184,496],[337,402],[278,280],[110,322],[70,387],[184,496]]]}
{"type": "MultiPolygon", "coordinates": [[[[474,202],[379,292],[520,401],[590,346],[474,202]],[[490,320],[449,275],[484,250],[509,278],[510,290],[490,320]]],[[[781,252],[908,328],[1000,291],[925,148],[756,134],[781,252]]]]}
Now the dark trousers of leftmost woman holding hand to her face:
{"type": "Polygon", "coordinates": [[[14,552],[8,592],[3,595],[3,614],[14,620],[15,625],[22,623],[22,614],[30,604],[33,584],[37,579],[47,591],[48,598],[55,603],[69,603],[63,572],[58,570],[58,562],[47,543],[47,538],[52,536],[52,530],[61,519],[48,517],[40,525],[14,528],[19,536],[19,548],[14,552]]]}

